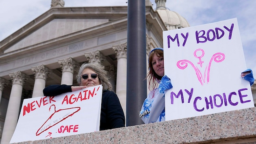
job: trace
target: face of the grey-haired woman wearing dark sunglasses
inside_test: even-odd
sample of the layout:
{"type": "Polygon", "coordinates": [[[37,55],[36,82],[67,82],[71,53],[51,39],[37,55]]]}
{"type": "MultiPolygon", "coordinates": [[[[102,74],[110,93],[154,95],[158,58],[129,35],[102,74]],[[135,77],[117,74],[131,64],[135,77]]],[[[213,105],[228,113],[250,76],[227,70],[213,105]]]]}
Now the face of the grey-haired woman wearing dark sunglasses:
{"type": "Polygon", "coordinates": [[[100,85],[98,74],[96,74],[96,76],[95,74],[96,72],[94,72],[90,68],[86,68],[85,70],[83,70],[80,86],[93,87],[96,85],[100,85]]]}

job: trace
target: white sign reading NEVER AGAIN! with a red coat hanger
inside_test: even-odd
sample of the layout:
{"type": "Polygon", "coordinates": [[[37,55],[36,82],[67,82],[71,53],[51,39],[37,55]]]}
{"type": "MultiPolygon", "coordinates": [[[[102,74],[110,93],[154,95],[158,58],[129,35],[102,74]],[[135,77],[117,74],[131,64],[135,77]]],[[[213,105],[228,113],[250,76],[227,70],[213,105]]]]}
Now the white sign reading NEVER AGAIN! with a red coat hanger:
{"type": "Polygon", "coordinates": [[[102,85],[25,99],[10,143],[100,130],[102,85]]]}

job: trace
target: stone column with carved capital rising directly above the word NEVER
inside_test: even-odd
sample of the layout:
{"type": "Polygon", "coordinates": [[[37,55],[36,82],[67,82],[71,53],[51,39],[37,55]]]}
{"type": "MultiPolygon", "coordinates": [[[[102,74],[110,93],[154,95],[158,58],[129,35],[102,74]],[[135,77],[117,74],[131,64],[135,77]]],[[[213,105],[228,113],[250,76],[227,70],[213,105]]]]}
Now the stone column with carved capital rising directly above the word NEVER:
{"type": "Polygon", "coordinates": [[[35,74],[35,85],[33,88],[32,97],[43,96],[43,89],[46,87],[47,75],[51,73],[51,70],[44,65],[32,68],[35,74]]]}

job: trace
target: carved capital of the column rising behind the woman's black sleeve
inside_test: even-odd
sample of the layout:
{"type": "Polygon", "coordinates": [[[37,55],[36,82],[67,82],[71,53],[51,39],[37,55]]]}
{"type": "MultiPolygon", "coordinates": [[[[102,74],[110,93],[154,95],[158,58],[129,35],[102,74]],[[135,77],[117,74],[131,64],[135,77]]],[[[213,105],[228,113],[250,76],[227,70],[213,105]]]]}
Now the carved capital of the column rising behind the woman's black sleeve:
{"type": "Polygon", "coordinates": [[[72,72],[74,73],[74,69],[78,67],[78,62],[76,62],[72,57],[68,59],[59,60],[59,64],[61,65],[62,72],[72,72]]]}

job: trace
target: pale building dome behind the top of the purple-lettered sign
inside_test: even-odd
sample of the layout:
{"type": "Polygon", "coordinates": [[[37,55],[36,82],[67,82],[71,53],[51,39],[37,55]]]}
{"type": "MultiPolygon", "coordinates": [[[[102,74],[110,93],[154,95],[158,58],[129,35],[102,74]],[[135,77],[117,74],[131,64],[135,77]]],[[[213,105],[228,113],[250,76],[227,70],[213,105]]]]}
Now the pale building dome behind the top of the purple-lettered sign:
{"type": "Polygon", "coordinates": [[[165,7],[166,0],[155,0],[156,11],[165,23],[167,30],[189,27],[189,23],[184,17],[165,7]]]}

